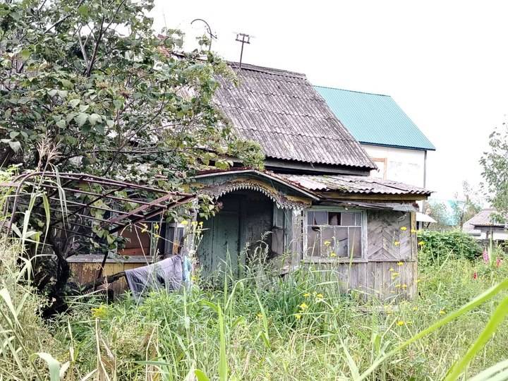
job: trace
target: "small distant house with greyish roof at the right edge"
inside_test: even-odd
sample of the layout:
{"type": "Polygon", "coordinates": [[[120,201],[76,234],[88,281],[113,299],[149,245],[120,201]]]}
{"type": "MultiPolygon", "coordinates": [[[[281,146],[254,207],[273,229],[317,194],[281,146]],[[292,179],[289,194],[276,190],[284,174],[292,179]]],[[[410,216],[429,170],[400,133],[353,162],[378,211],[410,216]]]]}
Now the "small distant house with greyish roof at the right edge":
{"type": "Polygon", "coordinates": [[[462,231],[470,234],[478,241],[507,241],[508,231],[506,224],[494,222],[492,214],[495,209],[484,209],[471,219],[468,219],[462,227],[462,231]]]}

